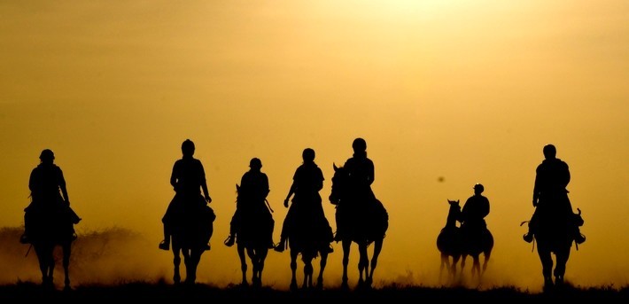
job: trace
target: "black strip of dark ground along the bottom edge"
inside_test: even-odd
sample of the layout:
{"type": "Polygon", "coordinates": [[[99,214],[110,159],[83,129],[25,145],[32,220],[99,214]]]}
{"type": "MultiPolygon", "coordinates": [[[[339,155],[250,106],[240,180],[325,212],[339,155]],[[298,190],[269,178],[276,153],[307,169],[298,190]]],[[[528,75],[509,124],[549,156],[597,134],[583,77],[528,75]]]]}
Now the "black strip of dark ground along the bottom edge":
{"type": "Polygon", "coordinates": [[[128,283],[115,286],[82,285],[71,291],[45,290],[34,283],[18,283],[0,286],[0,302],[18,303],[46,300],[55,303],[100,303],[120,300],[128,303],[137,300],[153,302],[200,300],[214,303],[330,303],[365,301],[369,303],[399,303],[408,301],[453,302],[506,300],[513,302],[531,302],[542,300],[565,302],[579,300],[579,303],[628,303],[629,287],[577,289],[564,287],[561,290],[530,293],[514,288],[497,288],[478,291],[466,288],[428,288],[428,287],[384,287],[368,290],[299,290],[297,292],[277,291],[271,288],[252,288],[232,286],[217,288],[210,285],[167,285],[128,283]],[[270,302],[269,302],[270,301],[270,302]]]}

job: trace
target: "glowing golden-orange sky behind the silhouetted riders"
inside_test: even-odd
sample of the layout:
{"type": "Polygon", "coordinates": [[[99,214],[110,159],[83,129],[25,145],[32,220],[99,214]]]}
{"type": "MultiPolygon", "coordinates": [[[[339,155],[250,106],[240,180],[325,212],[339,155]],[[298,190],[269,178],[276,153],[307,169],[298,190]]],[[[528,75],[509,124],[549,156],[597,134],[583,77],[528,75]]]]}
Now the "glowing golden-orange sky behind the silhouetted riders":
{"type": "MultiPolygon", "coordinates": [[[[566,279],[629,281],[624,0],[0,1],[0,15],[0,227],[22,224],[28,175],[50,148],[79,233],[137,231],[149,249],[127,259],[153,261],[138,277],[169,279],[160,219],[190,138],[217,214],[198,278],[237,284],[236,249],[222,241],[249,160],[268,174],[278,240],[283,198],[313,148],[335,228],[332,164],[361,136],[390,214],[376,285],[438,285],[447,199],[463,202],[483,183],[495,238],[485,286],[539,290],[540,260],[519,224],[553,143],[586,221],[566,279]]],[[[330,284],[340,280],[335,250],[330,284]]],[[[267,261],[263,284],[287,287],[289,254],[267,261]]],[[[20,277],[8,271],[3,283],[20,277]]]]}

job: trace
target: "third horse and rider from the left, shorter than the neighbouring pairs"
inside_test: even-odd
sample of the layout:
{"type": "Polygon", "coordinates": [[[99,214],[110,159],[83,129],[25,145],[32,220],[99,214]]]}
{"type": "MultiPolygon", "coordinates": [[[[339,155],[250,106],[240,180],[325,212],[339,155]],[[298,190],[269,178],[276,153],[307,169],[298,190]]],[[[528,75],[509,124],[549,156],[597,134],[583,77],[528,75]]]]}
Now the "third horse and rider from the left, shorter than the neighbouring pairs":
{"type": "Polygon", "coordinates": [[[248,256],[252,263],[252,286],[260,288],[268,249],[275,246],[273,243],[275,221],[273,209],[267,200],[268,176],[260,171],[261,160],[253,158],[249,167],[250,170],[245,172],[240,185],[236,185],[236,212],[229,223],[229,237],[225,240],[225,245],[237,244],[242,271],[241,285],[249,285],[246,261],[248,256]]]}

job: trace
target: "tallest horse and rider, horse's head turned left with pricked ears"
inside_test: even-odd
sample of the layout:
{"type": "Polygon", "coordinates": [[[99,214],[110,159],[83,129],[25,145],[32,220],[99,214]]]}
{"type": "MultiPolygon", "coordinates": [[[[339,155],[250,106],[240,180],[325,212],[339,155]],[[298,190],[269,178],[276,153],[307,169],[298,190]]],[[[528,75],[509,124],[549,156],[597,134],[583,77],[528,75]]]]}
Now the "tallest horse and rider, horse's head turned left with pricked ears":
{"type": "Polygon", "coordinates": [[[362,138],[352,143],[353,157],[344,166],[333,164],[334,176],[330,203],[336,206],[337,232],[335,241],[343,247],[343,275],[341,288],[347,289],[347,264],[352,243],[358,245],[358,287],[371,287],[377,259],[383,247],[389,214],[371,190],[374,164],[367,157],[367,143],[362,138]],[[368,247],[373,245],[369,261],[368,247]]]}

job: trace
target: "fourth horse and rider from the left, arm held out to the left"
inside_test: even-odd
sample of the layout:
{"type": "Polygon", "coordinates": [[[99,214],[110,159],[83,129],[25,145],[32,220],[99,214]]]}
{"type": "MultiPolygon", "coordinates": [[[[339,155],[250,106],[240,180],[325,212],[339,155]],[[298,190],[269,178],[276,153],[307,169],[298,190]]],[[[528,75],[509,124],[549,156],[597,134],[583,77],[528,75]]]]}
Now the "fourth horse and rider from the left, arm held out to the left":
{"type": "Polygon", "coordinates": [[[325,270],[328,254],[333,251],[332,229],[322,207],[322,198],[319,191],[323,187],[323,174],[321,168],[314,163],[314,150],[304,149],[302,152],[303,164],[297,168],[293,175],[291,188],[284,199],[284,207],[291,207],[284,218],[282,235],[275,250],[283,252],[286,244],[291,249],[291,291],[298,289],[297,284],[297,258],[301,255],[304,263],[304,277],[302,289],[323,288],[323,271],[325,270]],[[320,257],[319,274],[314,285],[313,261],[320,257]]]}

